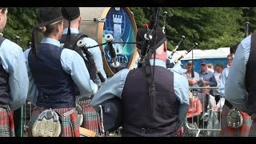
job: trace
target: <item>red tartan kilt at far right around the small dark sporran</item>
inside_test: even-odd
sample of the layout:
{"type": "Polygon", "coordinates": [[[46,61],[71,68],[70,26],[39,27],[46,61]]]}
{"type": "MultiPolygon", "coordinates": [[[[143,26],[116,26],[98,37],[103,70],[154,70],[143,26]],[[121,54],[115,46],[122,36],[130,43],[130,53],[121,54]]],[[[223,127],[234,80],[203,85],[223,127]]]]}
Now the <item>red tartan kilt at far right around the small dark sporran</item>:
{"type": "Polygon", "coordinates": [[[230,108],[226,105],[222,108],[222,118],[221,118],[221,137],[248,137],[250,132],[250,126],[252,124],[251,118],[248,114],[241,111],[243,122],[239,129],[232,129],[228,126],[226,122],[226,117],[230,108]]]}

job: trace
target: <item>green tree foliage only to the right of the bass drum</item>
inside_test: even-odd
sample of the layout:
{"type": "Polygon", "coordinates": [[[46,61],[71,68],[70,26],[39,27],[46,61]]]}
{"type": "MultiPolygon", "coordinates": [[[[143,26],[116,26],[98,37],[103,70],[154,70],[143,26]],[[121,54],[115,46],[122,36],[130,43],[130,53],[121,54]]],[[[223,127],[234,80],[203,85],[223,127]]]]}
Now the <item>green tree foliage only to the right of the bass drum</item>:
{"type": "MultiPolygon", "coordinates": [[[[142,18],[150,18],[152,8],[133,9],[142,10],[144,14],[134,14],[136,22],[142,18]]],[[[179,46],[179,50],[187,50],[198,42],[198,49],[217,49],[232,46],[242,40],[245,22],[255,22],[255,8],[235,7],[162,7],[159,26],[162,27],[162,14],[166,11],[166,35],[168,50],[173,50],[182,35],[186,39],[179,46]]],[[[143,26],[140,24],[138,26],[143,26]]],[[[251,23],[250,23],[251,26],[251,23]]],[[[252,32],[252,29],[250,29],[252,32]]]]}

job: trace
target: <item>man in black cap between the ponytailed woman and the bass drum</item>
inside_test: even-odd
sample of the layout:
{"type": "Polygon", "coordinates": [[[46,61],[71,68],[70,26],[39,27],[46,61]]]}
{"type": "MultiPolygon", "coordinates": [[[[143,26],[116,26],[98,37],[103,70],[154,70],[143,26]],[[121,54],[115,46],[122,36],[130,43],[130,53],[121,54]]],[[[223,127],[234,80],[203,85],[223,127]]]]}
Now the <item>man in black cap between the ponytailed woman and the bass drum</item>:
{"type": "MultiPolygon", "coordinates": [[[[64,18],[64,30],[62,33],[61,41],[64,44],[64,48],[70,48],[78,52],[81,55],[86,67],[89,70],[90,79],[97,83],[98,87],[102,86],[102,82],[96,74],[96,69],[99,68],[102,76],[106,79],[106,73],[103,69],[102,52],[99,46],[88,49],[89,54],[83,54],[82,49],[77,46],[79,39],[86,42],[86,46],[96,46],[98,42],[89,38],[86,34],[79,32],[79,26],[82,22],[79,7],[62,7],[62,15],[64,18]],[[79,36],[79,34],[81,36],[79,36]]],[[[100,115],[91,106],[91,100],[93,95],[87,94],[81,95],[77,86],[75,86],[76,102],[82,108],[82,127],[93,130],[98,135],[102,133],[102,125],[100,115]]]]}

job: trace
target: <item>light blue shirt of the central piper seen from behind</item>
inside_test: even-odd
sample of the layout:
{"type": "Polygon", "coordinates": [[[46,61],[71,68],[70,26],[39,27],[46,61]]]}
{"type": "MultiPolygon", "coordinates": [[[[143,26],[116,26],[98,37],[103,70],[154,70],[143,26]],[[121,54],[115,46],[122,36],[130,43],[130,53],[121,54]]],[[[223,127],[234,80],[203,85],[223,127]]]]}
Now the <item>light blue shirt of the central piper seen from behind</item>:
{"type": "MultiPolygon", "coordinates": [[[[153,65],[153,59],[150,59],[150,64],[153,65]]],[[[155,66],[166,67],[166,62],[156,59],[155,66]]],[[[126,82],[129,69],[120,70],[114,74],[112,78],[106,82],[101,89],[94,95],[92,106],[95,110],[99,111],[99,105],[108,99],[118,97],[122,98],[122,90],[126,82]]],[[[182,126],[182,122],[186,120],[187,110],[190,106],[189,103],[189,84],[187,79],[181,74],[174,73],[174,93],[180,102],[178,110],[178,126],[182,126]]]]}

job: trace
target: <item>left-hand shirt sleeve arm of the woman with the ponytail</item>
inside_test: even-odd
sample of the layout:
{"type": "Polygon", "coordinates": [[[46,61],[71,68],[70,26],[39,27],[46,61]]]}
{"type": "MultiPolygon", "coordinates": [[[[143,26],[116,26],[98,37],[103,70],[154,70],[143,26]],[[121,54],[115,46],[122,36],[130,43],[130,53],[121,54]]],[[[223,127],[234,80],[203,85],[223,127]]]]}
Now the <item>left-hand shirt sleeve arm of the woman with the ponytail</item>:
{"type": "Polygon", "coordinates": [[[30,49],[27,49],[26,51],[24,51],[24,57],[26,61],[26,70],[27,70],[29,81],[30,81],[27,99],[35,106],[38,98],[38,89],[34,84],[34,78],[32,77],[32,73],[30,71],[30,66],[28,62],[29,53],[30,53],[30,49]]]}

